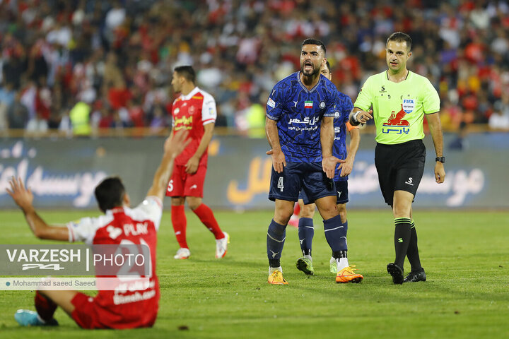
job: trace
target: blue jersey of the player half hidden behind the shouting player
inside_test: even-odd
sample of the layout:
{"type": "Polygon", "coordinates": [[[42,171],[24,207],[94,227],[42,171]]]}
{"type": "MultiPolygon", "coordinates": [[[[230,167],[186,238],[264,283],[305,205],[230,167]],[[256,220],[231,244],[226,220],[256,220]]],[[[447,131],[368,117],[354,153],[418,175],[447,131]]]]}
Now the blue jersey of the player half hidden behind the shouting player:
{"type": "MultiPolygon", "coordinates": [[[[336,113],[334,115],[334,146],[332,148],[332,155],[343,160],[346,159],[346,122],[349,121],[352,109],[353,103],[350,97],[338,91],[336,113]]],[[[334,174],[335,182],[348,180],[348,176],[339,177],[339,174],[340,171],[336,170],[334,174]]]]}

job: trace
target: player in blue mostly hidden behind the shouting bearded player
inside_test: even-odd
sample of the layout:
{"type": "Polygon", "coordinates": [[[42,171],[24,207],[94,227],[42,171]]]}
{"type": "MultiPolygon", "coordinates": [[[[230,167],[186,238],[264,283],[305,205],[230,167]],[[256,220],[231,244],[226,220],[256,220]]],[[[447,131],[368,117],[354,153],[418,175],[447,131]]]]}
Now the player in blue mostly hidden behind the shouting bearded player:
{"type": "MultiPolygon", "coordinates": [[[[325,78],[332,80],[329,61],[322,66],[320,73],[322,73],[325,78]]],[[[336,109],[339,114],[337,114],[337,117],[334,117],[334,148],[332,149],[332,154],[335,157],[345,160],[344,164],[339,165],[334,174],[334,184],[336,185],[337,191],[337,207],[346,233],[348,229],[346,203],[349,201],[347,180],[353,168],[353,160],[355,160],[358,145],[361,141],[361,133],[359,132],[358,126],[351,126],[349,123],[349,114],[353,109],[350,97],[341,92],[338,92],[338,94],[336,109]],[[346,152],[346,131],[349,131],[351,139],[348,153],[346,152]]],[[[300,218],[298,219],[298,236],[300,249],[303,251],[303,257],[298,258],[297,268],[302,270],[305,274],[312,275],[314,269],[312,266],[311,246],[312,238],[315,234],[312,218],[315,215],[315,204],[310,203],[304,205],[304,194],[305,192],[301,191],[301,195],[299,196],[300,218]]],[[[346,258],[340,258],[339,265],[334,256],[330,259],[331,273],[337,274],[339,272],[340,277],[351,275],[352,270],[354,270],[353,267],[355,266],[349,266],[346,258]]]]}

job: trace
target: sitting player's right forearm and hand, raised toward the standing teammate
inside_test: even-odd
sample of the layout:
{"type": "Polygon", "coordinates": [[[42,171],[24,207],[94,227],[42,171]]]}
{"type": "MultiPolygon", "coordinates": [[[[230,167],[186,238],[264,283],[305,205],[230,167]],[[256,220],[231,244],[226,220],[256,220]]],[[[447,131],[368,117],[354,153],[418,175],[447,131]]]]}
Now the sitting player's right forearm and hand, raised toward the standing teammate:
{"type": "Polygon", "coordinates": [[[187,131],[182,130],[166,138],[163,159],[156,170],[156,174],[154,174],[152,186],[148,189],[147,196],[157,196],[163,200],[168,180],[170,180],[173,172],[173,161],[191,142],[191,139],[187,138],[188,134],[187,131]]]}

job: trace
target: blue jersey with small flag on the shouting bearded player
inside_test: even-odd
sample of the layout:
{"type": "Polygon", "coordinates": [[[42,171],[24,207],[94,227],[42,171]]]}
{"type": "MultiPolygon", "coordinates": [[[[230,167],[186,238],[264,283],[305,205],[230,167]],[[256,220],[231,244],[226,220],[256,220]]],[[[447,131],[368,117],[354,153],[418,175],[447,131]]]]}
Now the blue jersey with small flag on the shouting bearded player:
{"type": "Polygon", "coordinates": [[[279,143],[287,162],[319,162],[322,117],[335,117],[338,91],[322,75],[308,90],[299,73],[276,83],[267,102],[267,118],[277,121],[279,143]]]}

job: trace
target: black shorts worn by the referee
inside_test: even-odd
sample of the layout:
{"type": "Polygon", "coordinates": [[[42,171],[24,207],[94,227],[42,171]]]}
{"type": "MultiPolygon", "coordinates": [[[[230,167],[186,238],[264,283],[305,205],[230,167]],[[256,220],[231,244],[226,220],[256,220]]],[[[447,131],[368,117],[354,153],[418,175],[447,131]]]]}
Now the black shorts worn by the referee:
{"type": "Polygon", "coordinates": [[[378,182],[385,202],[392,206],[394,191],[407,191],[416,195],[426,161],[426,147],[422,140],[397,145],[377,143],[375,166],[378,182]]]}

